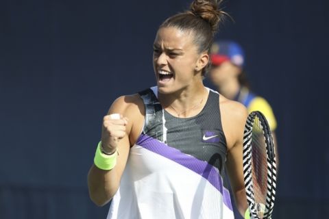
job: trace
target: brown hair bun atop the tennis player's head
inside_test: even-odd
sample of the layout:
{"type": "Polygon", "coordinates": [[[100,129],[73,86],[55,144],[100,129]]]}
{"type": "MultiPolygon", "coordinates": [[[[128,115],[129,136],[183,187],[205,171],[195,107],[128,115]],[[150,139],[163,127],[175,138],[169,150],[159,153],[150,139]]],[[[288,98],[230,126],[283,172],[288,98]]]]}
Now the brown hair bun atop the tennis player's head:
{"type": "Polygon", "coordinates": [[[223,16],[226,14],[219,9],[221,0],[195,0],[191,3],[190,10],[195,16],[200,16],[202,19],[207,21],[215,33],[218,29],[219,22],[223,20],[223,16]]]}

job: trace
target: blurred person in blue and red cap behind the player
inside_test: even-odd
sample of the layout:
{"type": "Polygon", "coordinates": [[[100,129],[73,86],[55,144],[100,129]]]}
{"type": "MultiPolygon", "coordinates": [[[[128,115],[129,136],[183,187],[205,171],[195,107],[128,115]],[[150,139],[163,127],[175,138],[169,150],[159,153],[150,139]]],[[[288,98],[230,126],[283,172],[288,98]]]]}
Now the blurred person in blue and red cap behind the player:
{"type": "MultiPolygon", "coordinates": [[[[209,71],[209,79],[218,92],[228,99],[238,101],[247,107],[248,112],[258,110],[262,112],[272,131],[276,146],[276,117],[271,105],[262,96],[258,96],[250,90],[249,81],[245,73],[245,52],[241,45],[231,40],[219,40],[212,44],[212,65],[209,71]]],[[[278,148],[276,146],[276,164],[278,168],[278,148]]],[[[235,207],[234,207],[235,208],[235,207]]],[[[235,218],[241,218],[239,212],[234,209],[235,218]]]]}

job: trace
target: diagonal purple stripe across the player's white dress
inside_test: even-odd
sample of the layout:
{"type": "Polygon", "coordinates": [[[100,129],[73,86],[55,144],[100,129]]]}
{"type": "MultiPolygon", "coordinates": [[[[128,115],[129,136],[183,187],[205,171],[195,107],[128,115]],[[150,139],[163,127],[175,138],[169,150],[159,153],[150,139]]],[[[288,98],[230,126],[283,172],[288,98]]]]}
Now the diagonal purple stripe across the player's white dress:
{"type": "Polygon", "coordinates": [[[143,146],[143,148],[148,149],[149,151],[167,157],[173,162],[176,162],[207,179],[209,183],[221,192],[223,195],[224,204],[232,210],[230,192],[228,192],[226,188],[223,188],[223,180],[221,175],[219,174],[219,171],[214,168],[214,166],[191,155],[186,155],[178,149],[172,148],[171,146],[168,146],[167,144],[144,134],[139,136],[136,144],[143,146]],[[191,159],[193,159],[193,162],[191,162],[191,159]]]}

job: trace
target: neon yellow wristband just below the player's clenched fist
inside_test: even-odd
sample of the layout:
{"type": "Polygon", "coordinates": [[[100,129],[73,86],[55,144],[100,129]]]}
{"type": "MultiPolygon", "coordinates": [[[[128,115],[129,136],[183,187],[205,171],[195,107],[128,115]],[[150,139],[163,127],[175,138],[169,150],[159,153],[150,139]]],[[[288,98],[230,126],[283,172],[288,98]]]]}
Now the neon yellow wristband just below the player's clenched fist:
{"type": "Polygon", "coordinates": [[[117,151],[112,155],[101,153],[101,142],[99,142],[95,153],[94,164],[101,170],[112,170],[117,165],[117,157],[117,151]]]}

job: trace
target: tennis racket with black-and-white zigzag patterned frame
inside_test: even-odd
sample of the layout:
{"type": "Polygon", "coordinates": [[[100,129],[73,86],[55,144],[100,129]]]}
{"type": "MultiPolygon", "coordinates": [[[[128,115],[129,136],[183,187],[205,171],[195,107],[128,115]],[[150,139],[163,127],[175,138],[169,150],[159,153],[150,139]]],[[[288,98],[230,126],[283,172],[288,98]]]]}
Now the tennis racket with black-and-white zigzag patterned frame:
{"type": "Polygon", "coordinates": [[[276,196],[276,155],[265,116],[249,114],[243,135],[243,175],[249,216],[270,219],[276,196]]]}

